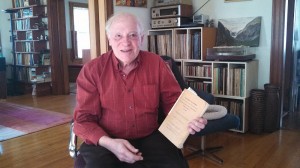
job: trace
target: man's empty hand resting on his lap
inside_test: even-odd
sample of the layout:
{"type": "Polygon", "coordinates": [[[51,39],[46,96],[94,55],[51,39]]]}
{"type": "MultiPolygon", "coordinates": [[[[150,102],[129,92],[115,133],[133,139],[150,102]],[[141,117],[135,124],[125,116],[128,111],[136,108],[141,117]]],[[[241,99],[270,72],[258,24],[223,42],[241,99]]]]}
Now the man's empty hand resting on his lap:
{"type": "Polygon", "coordinates": [[[103,136],[99,139],[99,145],[114,153],[122,162],[134,163],[143,160],[142,153],[125,139],[103,136]]]}

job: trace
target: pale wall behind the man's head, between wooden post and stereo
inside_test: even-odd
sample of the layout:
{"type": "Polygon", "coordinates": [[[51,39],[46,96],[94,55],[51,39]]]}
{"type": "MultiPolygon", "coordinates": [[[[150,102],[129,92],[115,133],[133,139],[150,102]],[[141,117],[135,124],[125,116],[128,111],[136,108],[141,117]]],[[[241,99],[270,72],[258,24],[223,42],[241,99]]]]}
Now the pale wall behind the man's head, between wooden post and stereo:
{"type": "Polygon", "coordinates": [[[136,15],[139,20],[142,22],[142,25],[144,25],[144,43],[142,45],[142,50],[147,50],[147,34],[148,30],[151,29],[150,23],[150,8],[153,6],[153,0],[147,1],[147,8],[142,7],[126,7],[126,6],[115,6],[116,1],[114,0],[114,13],[119,12],[128,12],[136,15]]]}

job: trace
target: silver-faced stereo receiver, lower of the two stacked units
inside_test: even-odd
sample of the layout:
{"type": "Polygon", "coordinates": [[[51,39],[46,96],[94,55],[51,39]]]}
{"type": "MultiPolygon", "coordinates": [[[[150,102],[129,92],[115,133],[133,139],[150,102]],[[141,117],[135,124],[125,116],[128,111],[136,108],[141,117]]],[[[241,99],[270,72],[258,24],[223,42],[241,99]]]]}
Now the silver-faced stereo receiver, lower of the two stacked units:
{"type": "Polygon", "coordinates": [[[151,27],[152,27],[152,29],[182,27],[182,25],[187,24],[187,23],[191,23],[190,18],[175,17],[175,18],[152,19],[151,27]]]}

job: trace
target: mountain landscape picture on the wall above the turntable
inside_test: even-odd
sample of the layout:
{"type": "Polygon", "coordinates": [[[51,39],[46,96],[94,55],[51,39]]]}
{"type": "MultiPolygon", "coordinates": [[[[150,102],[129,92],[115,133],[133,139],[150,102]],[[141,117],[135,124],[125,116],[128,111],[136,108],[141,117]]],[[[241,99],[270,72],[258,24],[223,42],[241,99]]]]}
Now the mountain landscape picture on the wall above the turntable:
{"type": "Polygon", "coordinates": [[[217,46],[258,47],[261,17],[220,19],[218,21],[217,46]]]}

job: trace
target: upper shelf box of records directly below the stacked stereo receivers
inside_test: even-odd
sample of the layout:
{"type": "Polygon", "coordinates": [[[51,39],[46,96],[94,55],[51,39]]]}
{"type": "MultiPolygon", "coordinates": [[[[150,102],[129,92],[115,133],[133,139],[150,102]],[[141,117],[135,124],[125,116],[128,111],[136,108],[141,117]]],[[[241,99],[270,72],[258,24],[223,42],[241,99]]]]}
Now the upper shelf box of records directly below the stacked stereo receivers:
{"type": "Polygon", "coordinates": [[[215,45],[216,33],[216,28],[209,27],[149,30],[148,51],[172,57],[183,72],[184,60],[206,60],[206,50],[215,45]]]}

